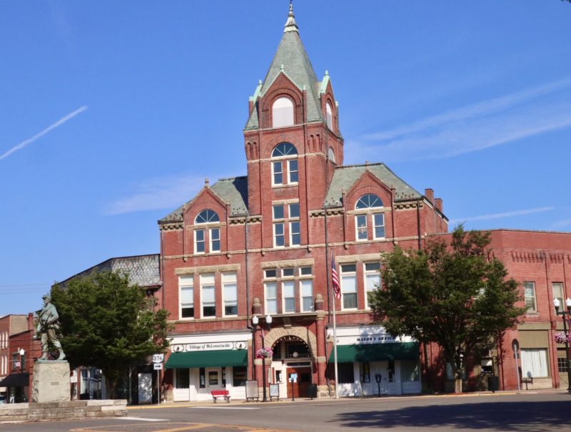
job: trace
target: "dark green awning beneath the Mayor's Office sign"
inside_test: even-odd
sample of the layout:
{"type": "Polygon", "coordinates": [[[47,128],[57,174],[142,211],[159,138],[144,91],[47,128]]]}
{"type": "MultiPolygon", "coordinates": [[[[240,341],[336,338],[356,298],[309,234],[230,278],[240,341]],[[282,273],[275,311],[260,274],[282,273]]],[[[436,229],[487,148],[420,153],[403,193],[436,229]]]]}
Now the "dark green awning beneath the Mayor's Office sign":
{"type": "MultiPolygon", "coordinates": [[[[345,363],[353,361],[382,361],[382,360],[417,360],[418,342],[397,342],[390,344],[361,344],[361,345],[338,345],[337,362],[345,363]]],[[[333,350],[329,361],[333,362],[333,350]]]]}

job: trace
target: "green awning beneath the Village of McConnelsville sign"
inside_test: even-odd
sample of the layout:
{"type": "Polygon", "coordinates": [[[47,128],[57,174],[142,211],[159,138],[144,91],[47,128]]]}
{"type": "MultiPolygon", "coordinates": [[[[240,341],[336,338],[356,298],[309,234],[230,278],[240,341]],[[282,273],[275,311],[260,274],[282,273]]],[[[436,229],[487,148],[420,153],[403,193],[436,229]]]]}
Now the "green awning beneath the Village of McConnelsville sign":
{"type": "Polygon", "coordinates": [[[246,366],[246,349],[219,349],[214,351],[173,352],[166,361],[166,369],[187,369],[221,366],[246,366]]]}

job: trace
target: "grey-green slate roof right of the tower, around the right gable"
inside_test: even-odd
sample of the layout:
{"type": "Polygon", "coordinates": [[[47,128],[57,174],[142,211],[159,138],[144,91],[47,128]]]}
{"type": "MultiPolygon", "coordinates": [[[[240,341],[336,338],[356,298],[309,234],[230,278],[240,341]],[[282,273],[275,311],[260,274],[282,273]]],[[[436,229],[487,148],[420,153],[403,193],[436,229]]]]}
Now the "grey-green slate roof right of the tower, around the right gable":
{"type": "Polygon", "coordinates": [[[397,200],[406,200],[410,198],[420,198],[422,195],[418,193],[413,187],[405,183],[393,171],[391,171],[383,163],[374,163],[368,165],[348,165],[335,168],[333,179],[329,185],[329,190],[325,196],[325,207],[335,207],[342,205],[341,199],[343,192],[347,192],[360,178],[365,170],[369,170],[371,174],[375,175],[381,182],[388,187],[395,188],[397,200]]]}

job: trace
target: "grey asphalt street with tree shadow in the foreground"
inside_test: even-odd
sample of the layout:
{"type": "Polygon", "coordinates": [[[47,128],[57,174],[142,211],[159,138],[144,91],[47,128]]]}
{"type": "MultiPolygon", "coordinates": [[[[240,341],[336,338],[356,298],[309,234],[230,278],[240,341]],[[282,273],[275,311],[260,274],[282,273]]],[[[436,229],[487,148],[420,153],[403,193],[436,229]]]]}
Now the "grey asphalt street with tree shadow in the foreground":
{"type": "Polygon", "coordinates": [[[12,423],[11,432],[571,431],[571,395],[480,394],[132,407],[126,418],[12,423]]]}

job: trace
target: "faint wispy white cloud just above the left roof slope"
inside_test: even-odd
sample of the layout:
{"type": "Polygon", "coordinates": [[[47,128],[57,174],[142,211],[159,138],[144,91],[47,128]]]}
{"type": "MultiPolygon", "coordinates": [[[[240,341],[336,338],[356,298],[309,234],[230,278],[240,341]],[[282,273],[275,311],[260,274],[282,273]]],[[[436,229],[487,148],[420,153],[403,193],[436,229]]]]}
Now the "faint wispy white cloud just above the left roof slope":
{"type": "Polygon", "coordinates": [[[111,202],[104,212],[108,215],[141,212],[145,210],[174,210],[204,186],[204,177],[196,175],[146,180],[134,187],[131,195],[111,202]]]}

